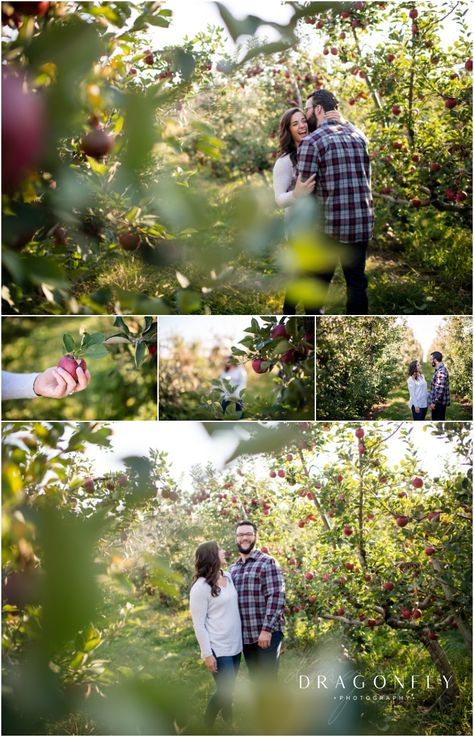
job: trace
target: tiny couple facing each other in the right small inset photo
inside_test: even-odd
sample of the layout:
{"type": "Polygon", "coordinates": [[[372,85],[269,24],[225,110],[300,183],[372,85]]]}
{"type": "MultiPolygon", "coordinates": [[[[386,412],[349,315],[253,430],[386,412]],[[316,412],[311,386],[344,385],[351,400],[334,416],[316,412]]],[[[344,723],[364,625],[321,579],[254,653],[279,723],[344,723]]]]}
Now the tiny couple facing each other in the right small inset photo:
{"type": "Polygon", "coordinates": [[[432,420],[444,420],[446,407],[451,404],[449,372],[443,363],[443,354],[433,351],[430,359],[434,374],[429,393],[420,362],[412,361],[408,367],[408,405],[414,420],[424,420],[428,407],[431,409],[432,420]]]}

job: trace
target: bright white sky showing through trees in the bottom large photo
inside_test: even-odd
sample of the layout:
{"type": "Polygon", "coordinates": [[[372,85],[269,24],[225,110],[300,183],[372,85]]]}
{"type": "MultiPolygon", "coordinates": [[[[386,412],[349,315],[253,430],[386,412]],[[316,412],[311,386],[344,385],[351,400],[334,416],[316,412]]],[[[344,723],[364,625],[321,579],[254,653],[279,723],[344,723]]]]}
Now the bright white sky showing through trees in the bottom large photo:
{"type": "MultiPolygon", "coordinates": [[[[412,437],[419,447],[420,472],[435,476],[441,473],[446,459],[450,457],[450,448],[423,431],[424,424],[413,424],[412,437]]],[[[245,423],[240,423],[239,427],[242,425],[245,423]]],[[[235,439],[231,437],[209,437],[199,422],[114,422],[112,427],[112,453],[95,447],[88,450],[87,457],[93,463],[94,475],[124,469],[121,462],[123,457],[147,455],[149,448],[157,448],[168,452],[173,477],[181,482],[182,488],[189,489],[189,472],[193,465],[211,462],[217,469],[224,469],[226,458],[235,447],[235,439]]],[[[365,427],[370,432],[370,423],[365,427]]],[[[393,424],[390,427],[393,428],[393,424]]],[[[397,435],[388,441],[388,447],[391,465],[399,463],[405,447],[397,435]]],[[[325,460],[320,456],[320,460],[321,465],[324,465],[331,459],[327,457],[325,460]]],[[[267,468],[263,462],[260,468],[262,477],[266,477],[267,468]]],[[[260,475],[258,469],[256,473],[260,475]]]]}

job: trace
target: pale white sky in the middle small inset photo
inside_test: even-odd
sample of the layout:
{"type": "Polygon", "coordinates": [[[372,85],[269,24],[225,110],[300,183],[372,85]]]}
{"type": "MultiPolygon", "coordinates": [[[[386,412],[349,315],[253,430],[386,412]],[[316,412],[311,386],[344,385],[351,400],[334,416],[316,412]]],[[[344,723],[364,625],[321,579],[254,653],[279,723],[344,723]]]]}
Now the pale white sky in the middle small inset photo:
{"type": "MultiPolygon", "coordinates": [[[[250,325],[252,317],[242,315],[184,315],[160,317],[160,354],[167,355],[166,344],[173,335],[180,335],[186,343],[199,341],[204,350],[221,343],[225,350],[236,345],[250,325]]],[[[261,324],[260,317],[256,320],[261,324]]]]}

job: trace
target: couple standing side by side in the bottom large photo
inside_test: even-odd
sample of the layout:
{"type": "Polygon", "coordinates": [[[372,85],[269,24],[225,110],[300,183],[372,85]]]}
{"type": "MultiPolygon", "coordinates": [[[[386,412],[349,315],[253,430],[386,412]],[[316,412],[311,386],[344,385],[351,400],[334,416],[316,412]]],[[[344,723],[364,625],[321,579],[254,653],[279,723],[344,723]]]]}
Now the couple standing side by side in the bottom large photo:
{"type": "Polygon", "coordinates": [[[281,569],[274,558],[255,547],[253,522],[236,525],[235,542],[240,557],[228,571],[224,551],[216,542],[198,546],[190,593],[201,656],[215,681],[205,723],[212,727],[221,712],[229,730],[242,654],[253,679],[276,678],[285,603],[281,569]]]}

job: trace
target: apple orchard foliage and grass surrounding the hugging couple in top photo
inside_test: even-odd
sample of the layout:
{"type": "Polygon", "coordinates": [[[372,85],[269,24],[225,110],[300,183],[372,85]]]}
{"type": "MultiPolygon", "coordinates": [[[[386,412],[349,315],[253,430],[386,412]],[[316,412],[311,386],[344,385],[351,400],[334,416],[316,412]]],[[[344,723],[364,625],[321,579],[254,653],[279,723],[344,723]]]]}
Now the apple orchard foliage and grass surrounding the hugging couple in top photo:
{"type": "MultiPolygon", "coordinates": [[[[290,3],[268,44],[258,16],[220,4],[220,28],[162,47],[150,31],[173,3],[17,5],[2,5],[5,312],[278,313],[321,256],[282,245],[278,120],[320,87],[370,140],[371,312],[471,312],[468,3],[290,3]],[[226,34],[251,40],[233,56],[226,34]]],[[[343,293],[338,274],[326,312],[343,293]]]]}

